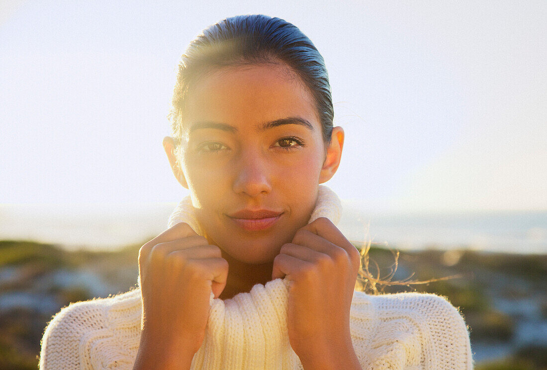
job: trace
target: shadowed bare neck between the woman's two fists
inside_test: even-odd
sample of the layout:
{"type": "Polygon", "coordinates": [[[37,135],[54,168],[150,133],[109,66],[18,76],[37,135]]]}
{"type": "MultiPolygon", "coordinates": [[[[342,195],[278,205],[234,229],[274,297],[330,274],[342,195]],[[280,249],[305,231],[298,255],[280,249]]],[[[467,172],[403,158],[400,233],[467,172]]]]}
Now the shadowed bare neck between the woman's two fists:
{"type": "Polygon", "coordinates": [[[266,284],[271,280],[274,262],[253,265],[238,261],[224,251],[222,257],[228,261],[229,269],[226,287],[220,294],[221,299],[228,299],[239,293],[249,292],[254,285],[266,284]]]}

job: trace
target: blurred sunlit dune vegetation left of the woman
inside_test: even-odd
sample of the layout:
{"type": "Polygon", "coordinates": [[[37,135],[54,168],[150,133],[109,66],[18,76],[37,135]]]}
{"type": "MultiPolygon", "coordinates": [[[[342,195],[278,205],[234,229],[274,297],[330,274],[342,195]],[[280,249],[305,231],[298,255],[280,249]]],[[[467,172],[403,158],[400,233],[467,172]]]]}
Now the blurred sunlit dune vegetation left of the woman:
{"type": "Polygon", "coordinates": [[[0,368],[36,370],[51,316],[71,302],[134,286],[138,248],[67,252],[48,244],[0,241],[0,368]]]}

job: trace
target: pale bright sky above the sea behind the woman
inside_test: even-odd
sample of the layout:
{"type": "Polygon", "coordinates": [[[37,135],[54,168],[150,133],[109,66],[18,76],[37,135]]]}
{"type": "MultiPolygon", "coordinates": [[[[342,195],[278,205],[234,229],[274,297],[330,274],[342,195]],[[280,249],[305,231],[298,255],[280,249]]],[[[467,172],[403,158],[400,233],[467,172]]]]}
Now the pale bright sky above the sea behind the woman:
{"type": "Polygon", "coordinates": [[[547,2],[0,3],[0,203],[187,193],[161,146],[188,42],[293,22],[327,63],[342,164],[372,210],[547,210],[547,2]]]}

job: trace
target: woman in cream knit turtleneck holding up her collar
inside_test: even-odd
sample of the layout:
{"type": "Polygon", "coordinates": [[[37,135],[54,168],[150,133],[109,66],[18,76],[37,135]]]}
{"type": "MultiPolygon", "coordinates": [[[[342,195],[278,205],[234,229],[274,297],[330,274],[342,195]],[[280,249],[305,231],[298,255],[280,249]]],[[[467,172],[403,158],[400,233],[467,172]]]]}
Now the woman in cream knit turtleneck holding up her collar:
{"type": "Polygon", "coordinates": [[[433,295],[354,292],[359,253],[319,184],[340,163],[324,61],[286,21],[213,25],[179,65],[164,148],[190,191],[139,252],[139,289],[73,304],[40,367],[464,369],[468,333],[433,295]]]}

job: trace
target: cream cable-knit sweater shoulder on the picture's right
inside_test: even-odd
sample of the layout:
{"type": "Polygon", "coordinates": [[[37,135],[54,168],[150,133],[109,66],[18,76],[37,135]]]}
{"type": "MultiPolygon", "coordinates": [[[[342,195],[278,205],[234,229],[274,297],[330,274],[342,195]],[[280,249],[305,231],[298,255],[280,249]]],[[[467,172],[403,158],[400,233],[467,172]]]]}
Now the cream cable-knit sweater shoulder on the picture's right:
{"type": "Polygon", "coordinates": [[[473,367],[467,326],[444,297],[423,293],[369,296],[355,292],[351,325],[354,344],[369,343],[369,359],[398,364],[389,369],[473,367]]]}

